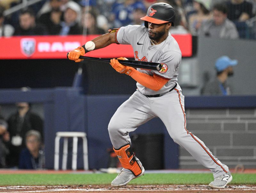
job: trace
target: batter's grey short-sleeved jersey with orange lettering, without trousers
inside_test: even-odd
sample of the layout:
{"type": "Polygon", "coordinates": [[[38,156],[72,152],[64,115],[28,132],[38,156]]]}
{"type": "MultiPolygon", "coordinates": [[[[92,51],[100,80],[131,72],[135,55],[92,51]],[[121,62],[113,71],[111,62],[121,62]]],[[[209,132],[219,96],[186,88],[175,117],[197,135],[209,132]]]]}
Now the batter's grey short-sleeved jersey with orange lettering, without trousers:
{"type": "Polygon", "coordinates": [[[148,28],[145,26],[125,26],[116,33],[116,40],[120,44],[131,44],[135,60],[163,63],[162,71],[137,69],[140,72],[153,76],[163,77],[169,81],[159,90],[153,91],[140,83],[137,88],[140,93],[154,95],[167,93],[177,82],[178,69],[181,62],[181,51],[177,41],[169,33],[168,37],[160,44],[151,46],[148,37],[148,28]]]}

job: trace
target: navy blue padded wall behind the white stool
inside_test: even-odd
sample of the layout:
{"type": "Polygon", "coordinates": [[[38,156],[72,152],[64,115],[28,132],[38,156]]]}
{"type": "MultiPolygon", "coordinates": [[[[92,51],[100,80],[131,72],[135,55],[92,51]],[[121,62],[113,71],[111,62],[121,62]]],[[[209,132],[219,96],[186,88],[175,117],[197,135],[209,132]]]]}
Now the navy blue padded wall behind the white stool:
{"type": "MultiPolygon", "coordinates": [[[[27,92],[22,92],[20,89],[0,89],[0,96],[0,104],[3,105],[4,111],[8,113],[15,112],[13,103],[17,101],[43,104],[45,166],[49,169],[53,168],[54,139],[55,133],[58,131],[86,132],[89,168],[99,169],[107,167],[107,149],[112,148],[108,136],[108,123],[116,109],[130,97],[130,95],[89,96],[82,94],[79,88],[70,87],[31,89],[27,92]],[[8,111],[8,106],[13,107],[12,111],[8,111]]],[[[39,109],[35,110],[35,112],[39,111],[39,109]]],[[[178,145],[173,142],[160,119],[150,120],[132,134],[163,134],[164,138],[161,143],[165,148],[161,150],[164,155],[164,168],[178,168],[178,145]]],[[[62,144],[62,140],[60,140],[60,166],[62,144]]],[[[68,168],[71,168],[71,143],[68,145],[68,152],[68,168]]],[[[81,140],[78,141],[78,155],[82,155],[81,140]]],[[[77,158],[77,167],[83,168],[82,156],[77,158]]]]}

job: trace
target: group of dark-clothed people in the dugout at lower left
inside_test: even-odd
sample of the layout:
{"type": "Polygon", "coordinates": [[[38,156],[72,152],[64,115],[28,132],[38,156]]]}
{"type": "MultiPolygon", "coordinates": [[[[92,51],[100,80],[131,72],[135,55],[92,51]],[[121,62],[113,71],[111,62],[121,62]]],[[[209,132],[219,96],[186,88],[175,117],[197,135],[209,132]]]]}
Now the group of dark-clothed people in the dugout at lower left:
{"type": "Polygon", "coordinates": [[[7,119],[0,111],[0,168],[44,168],[43,125],[27,102],[17,102],[7,119]]]}

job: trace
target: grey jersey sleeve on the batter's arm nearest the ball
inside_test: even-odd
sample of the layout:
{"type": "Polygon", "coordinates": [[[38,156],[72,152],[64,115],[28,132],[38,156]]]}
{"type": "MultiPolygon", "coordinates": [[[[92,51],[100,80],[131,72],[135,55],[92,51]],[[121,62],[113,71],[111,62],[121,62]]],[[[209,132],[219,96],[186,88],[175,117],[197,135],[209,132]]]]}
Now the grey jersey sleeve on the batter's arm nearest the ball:
{"type": "Polygon", "coordinates": [[[134,36],[136,36],[136,30],[138,25],[128,25],[120,27],[116,34],[116,40],[120,44],[132,44],[134,36]]]}

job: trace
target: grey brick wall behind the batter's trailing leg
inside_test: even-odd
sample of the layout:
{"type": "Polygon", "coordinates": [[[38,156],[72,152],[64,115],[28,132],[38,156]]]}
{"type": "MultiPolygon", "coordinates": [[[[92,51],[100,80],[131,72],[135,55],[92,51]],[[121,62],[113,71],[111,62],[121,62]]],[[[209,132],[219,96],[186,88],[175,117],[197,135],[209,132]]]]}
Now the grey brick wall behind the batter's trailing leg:
{"type": "MultiPolygon", "coordinates": [[[[187,129],[229,168],[256,168],[256,109],[186,109],[187,129]]],[[[204,168],[180,147],[180,168],[204,168]]]]}

